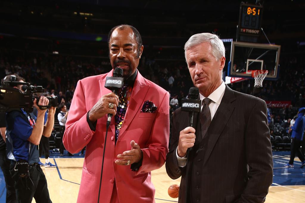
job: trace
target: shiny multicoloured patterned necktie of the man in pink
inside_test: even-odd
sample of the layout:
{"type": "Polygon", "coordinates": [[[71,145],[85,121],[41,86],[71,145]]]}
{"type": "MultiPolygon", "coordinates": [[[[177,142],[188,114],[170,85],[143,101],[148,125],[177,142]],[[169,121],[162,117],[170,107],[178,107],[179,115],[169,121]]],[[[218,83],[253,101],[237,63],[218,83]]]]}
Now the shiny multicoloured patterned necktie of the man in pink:
{"type": "Polygon", "coordinates": [[[117,139],[123,125],[125,113],[131,96],[131,91],[132,87],[124,86],[118,95],[119,106],[117,107],[117,114],[115,115],[115,143],[117,143],[117,139]]]}

